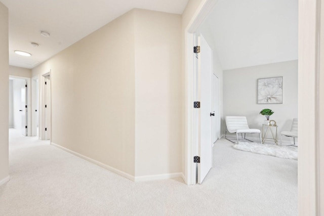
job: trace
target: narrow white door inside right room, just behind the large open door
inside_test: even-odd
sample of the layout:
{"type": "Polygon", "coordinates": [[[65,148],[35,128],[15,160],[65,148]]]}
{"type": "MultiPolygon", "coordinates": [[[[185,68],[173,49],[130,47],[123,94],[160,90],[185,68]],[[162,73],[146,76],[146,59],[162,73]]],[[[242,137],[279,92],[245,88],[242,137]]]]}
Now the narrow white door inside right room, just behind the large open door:
{"type": "Polygon", "coordinates": [[[219,95],[218,95],[218,77],[213,74],[212,75],[212,81],[213,81],[213,117],[212,117],[212,143],[215,143],[218,139],[219,134],[219,107],[218,107],[218,101],[219,101],[219,95]]]}

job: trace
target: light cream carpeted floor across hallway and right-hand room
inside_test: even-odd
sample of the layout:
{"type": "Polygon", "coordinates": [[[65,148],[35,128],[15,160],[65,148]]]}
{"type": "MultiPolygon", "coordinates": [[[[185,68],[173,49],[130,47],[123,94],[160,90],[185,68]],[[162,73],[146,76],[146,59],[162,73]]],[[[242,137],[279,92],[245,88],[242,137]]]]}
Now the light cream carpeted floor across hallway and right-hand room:
{"type": "Polygon", "coordinates": [[[11,181],[0,215],[297,215],[297,161],[220,140],[203,184],[134,183],[10,130],[11,181]]]}

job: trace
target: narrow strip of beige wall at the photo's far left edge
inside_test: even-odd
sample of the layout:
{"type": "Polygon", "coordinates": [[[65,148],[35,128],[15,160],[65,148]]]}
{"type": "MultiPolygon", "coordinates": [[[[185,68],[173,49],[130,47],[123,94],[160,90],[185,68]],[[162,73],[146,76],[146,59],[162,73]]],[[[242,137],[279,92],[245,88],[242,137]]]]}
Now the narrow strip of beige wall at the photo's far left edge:
{"type": "Polygon", "coordinates": [[[9,24],[8,8],[0,2],[0,185],[9,181],[9,24]]]}

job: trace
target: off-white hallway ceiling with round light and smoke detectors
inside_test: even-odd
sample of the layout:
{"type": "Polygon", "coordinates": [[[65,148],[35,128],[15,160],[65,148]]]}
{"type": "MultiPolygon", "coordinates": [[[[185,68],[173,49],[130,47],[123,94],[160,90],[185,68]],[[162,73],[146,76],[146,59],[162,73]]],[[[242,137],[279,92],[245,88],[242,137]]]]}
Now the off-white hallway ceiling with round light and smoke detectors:
{"type": "Polygon", "coordinates": [[[188,0],[0,0],[9,9],[9,64],[33,68],[133,8],[182,14],[188,0]],[[44,30],[51,34],[44,37],[44,30]],[[36,42],[39,47],[32,47],[36,42]],[[23,57],[14,53],[31,53],[23,57]]]}

